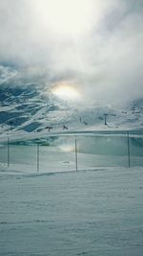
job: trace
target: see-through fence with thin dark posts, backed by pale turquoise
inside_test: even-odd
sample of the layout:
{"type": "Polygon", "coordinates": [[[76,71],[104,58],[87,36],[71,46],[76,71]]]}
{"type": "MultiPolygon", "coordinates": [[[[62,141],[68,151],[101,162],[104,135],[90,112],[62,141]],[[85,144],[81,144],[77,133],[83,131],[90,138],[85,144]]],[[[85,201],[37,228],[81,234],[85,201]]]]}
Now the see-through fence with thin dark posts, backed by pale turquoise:
{"type": "Polygon", "coordinates": [[[0,145],[0,163],[12,170],[62,172],[143,166],[142,134],[68,134],[0,145]]]}

